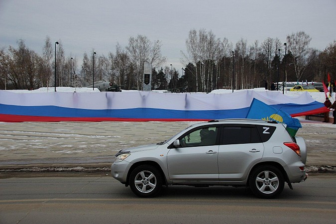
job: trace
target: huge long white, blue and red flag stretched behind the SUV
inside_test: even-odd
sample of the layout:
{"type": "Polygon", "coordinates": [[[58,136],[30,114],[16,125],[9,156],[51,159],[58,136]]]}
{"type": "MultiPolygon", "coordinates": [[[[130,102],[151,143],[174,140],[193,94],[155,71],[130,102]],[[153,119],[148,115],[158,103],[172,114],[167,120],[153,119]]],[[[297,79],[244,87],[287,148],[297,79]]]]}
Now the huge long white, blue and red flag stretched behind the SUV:
{"type": "Polygon", "coordinates": [[[308,94],[287,97],[276,91],[224,94],[13,93],[0,91],[0,121],[196,121],[245,118],[253,98],[291,116],[326,112],[308,94]]]}

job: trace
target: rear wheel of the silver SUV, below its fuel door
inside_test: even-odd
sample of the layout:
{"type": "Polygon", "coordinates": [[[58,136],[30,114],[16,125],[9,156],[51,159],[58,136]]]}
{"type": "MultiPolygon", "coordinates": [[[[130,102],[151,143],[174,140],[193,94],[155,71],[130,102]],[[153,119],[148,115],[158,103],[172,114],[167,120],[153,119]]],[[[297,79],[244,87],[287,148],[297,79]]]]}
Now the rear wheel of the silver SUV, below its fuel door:
{"type": "Polygon", "coordinates": [[[274,166],[260,166],[250,174],[249,186],[259,198],[275,198],[282,192],[284,185],[282,172],[274,166]]]}

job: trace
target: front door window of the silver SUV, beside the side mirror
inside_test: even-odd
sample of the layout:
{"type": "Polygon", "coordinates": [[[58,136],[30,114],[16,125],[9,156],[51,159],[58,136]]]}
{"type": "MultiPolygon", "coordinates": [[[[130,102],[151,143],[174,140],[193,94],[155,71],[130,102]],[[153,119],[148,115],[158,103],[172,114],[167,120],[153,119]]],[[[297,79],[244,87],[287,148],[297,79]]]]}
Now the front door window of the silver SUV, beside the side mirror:
{"type": "Polygon", "coordinates": [[[215,145],[218,127],[196,129],[180,138],[181,147],[215,145]]]}

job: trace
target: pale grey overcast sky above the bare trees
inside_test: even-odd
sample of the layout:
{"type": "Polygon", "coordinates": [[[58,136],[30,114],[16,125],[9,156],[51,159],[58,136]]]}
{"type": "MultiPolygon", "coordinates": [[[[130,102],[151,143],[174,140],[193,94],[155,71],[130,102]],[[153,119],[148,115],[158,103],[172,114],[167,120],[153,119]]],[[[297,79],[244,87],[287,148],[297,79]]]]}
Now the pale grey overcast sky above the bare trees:
{"type": "Polygon", "coordinates": [[[267,37],[286,42],[304,31],[310,47],[324,50],[336,40],[336,0],[0,0],[0,47],[23,39],[41,54],[46,36],[61,41],[66,57],[94,49],[115,53],[138,34],[160,40],[166,64],[181,72],[180,51],[191,29],[212,30],[233,46],[241,38],[253,44],[267,37]]]}

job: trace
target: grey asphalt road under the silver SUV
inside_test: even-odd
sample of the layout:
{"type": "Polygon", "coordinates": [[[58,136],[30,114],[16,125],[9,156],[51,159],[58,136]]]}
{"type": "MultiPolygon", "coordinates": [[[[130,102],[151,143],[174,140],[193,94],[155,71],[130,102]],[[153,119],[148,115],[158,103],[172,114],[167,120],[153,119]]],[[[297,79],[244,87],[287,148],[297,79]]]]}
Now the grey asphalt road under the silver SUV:
{"type": "Polygon", "coordinates": [[[169,186],[157,198],[141,199],[108,173],[49,175],[0,179],[0,223],[335,224],[336,219],[335,175],[310,176],[294,190],[285,186],[274,200],[255,198],[246,188],[188,186],[169,186]]]}

